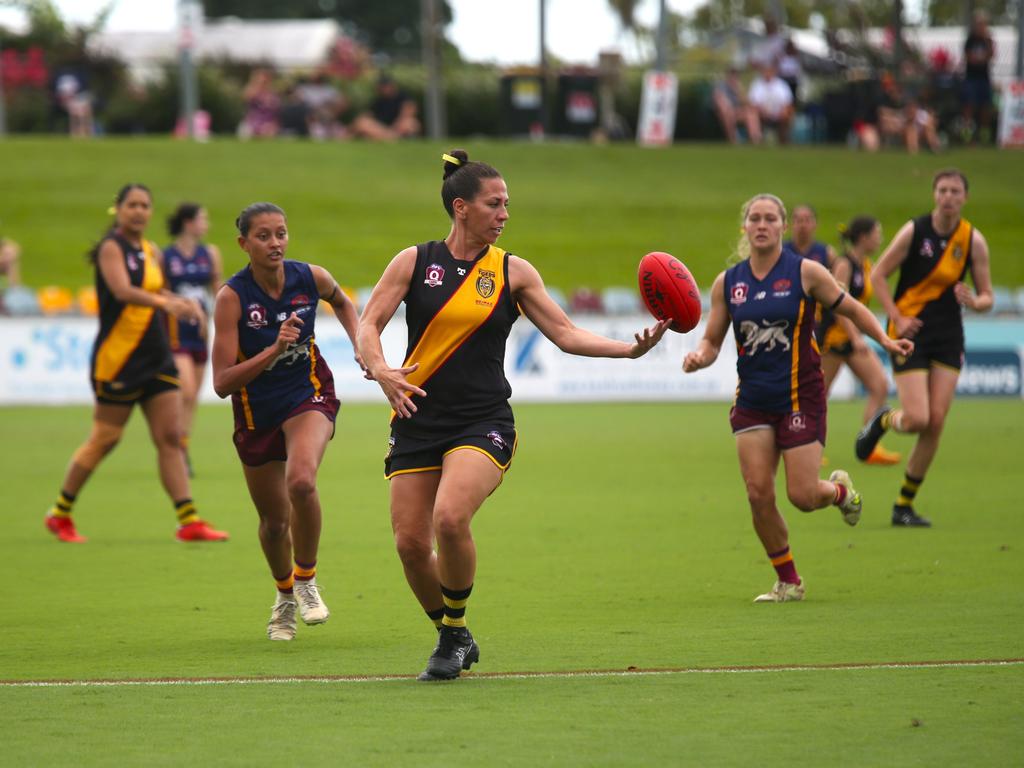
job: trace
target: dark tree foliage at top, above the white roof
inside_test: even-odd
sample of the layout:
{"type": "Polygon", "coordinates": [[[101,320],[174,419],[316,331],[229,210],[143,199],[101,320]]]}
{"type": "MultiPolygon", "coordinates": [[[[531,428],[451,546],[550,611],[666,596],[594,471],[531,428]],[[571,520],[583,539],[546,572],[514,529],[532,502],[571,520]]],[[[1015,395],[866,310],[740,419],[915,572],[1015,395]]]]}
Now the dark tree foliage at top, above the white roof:
{"type": "MultiPolygon", "coordinates": [[[[441,18],[452,20],[447,0],[441,18]]],[[[335,18],[374,50],[413,54],[420,50],[421,0],[202,0],[210,18],[335,18]]]]}

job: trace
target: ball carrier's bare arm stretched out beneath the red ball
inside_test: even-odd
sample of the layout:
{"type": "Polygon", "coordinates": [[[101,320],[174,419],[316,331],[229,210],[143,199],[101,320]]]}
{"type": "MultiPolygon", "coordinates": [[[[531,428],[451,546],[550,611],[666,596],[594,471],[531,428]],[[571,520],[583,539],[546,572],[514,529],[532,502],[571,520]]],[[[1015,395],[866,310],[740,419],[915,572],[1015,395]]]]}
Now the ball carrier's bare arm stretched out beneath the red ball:
{"type": "Polygon", "coordinates": [[[525,259],[509,258],[509,288],[523,313],[563,352],[585,357],[640,357],[662,340],[671,321],[658,321],[630,344],[586,331],[573,325],[544,287],[541,273],[525,259]]]}

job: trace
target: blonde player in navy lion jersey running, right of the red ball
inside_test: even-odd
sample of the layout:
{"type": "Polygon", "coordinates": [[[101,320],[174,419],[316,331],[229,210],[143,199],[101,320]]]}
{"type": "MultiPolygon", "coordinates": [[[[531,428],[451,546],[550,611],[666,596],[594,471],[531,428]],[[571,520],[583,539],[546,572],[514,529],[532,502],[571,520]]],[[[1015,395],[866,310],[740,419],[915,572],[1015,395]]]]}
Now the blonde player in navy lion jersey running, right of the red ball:
{"type": "Polygon", "coordinates": [[[772,589],[755,602],[804,597],[785,520],[775,503],[779,459],[786,495],[798,509],[836,505],[849,525],[860,519],[860,495],[850,476],[836,470],[828,480],[818,477],[825,391],[813,338],[815,302],[850,317],[889,351],[908,354],[913,348],[905,339],[888,338],[874,315],[850,300],[821,264],[783,250],[785,220],[785,207],[774,195],[757,195],[743,205],[739,261],[715,279],[705,336],[683,360],[686,373],[712,365],[732,325],[739,382],[729,421],[754,529],[777,574],[772,589]]]}

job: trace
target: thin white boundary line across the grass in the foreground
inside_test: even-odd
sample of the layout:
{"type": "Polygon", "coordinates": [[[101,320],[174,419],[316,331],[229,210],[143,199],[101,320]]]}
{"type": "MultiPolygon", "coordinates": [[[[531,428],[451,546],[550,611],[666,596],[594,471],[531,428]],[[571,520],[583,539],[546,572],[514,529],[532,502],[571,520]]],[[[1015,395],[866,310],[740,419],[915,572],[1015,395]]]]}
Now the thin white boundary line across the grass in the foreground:
{"type": "MultiPolygon", "coordinates": [[[[863,670],[935,670],[971,667],[1022,667],[1024,658],[961,662],[879,662],[838,665],[778,665],[765,667],[689,667],[652,670],[579,670],[564,672],[477,672],[463,680],[531,680],[537,678],[664,677],[674,675],[751,675],[780,672],[857,672],[863,670]]],[[[138,680],[0,680],[0,688],[117,688],[169,685],[281,685],[283,683],[390,683],[415,680],[411,675],[336,675],[238,678],[163,678],[138,680]]]]}

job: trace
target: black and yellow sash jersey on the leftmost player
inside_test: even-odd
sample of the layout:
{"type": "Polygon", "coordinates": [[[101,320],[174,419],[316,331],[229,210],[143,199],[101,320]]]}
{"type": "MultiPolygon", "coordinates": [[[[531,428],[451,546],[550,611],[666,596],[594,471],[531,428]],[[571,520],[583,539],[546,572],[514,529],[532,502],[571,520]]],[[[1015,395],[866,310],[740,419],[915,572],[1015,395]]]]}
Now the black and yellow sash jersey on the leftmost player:
{"type": "MultiPolygon", "coordinates": [[[[124,256],[128,278],[135,288],[158,293],[164,276],[153,246],[142,241],[135,248],[124,238],[111,236],[124,256]]],[[[104,389],[129,391],[157,376],[161,369],[173,371],[167,332],[156,307],[126,304],[111,293],[96,265],[96,298],[99,303],[99,334],[92,347],[92,378],[109,384],[104,389]]]]}

